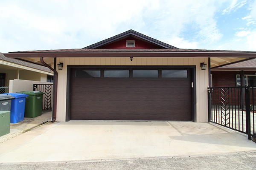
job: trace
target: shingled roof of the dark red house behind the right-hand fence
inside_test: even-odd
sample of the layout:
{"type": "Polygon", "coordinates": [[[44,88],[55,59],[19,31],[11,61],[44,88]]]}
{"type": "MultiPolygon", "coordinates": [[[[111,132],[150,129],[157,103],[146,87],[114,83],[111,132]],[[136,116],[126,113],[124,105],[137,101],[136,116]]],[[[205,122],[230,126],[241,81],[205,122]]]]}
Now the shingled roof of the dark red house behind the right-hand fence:
{"type": "Polygon", "coordinates": [[[220,65],[211,70],[254,70],[256,71],[256,59],[245,59],[240,62],[220,65]]]}

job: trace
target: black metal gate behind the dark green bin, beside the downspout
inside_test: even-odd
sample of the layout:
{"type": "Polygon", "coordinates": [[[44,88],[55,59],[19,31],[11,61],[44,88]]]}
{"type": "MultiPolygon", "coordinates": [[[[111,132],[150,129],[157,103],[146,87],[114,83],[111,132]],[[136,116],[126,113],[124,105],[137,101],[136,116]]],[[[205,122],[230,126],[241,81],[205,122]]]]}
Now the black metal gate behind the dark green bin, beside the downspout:
{"type": "Polygon", "coordinates": [[[34,84],[34,91],[43,92],[43,105],[42,110],[52,110],[52,91],[53,84],[34,84]]]}

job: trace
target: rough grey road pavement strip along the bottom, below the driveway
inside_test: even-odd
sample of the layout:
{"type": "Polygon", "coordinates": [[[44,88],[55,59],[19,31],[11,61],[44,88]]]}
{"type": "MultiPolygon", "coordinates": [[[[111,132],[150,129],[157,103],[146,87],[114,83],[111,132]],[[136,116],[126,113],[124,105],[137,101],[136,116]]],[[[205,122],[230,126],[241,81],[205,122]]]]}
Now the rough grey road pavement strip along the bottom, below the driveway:
{"type": "Polygon", "coordinates": [[[0,163],[1,170],[256,170],[256,151],[116,160],[0,163]]]}

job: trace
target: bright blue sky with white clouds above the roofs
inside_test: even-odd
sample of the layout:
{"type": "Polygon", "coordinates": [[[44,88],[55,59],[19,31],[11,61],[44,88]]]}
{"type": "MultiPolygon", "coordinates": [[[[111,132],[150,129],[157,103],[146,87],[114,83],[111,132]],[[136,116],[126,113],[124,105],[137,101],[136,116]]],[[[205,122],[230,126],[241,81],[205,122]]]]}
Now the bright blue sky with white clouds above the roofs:
{"type": "Polygon", "coordinates": [[[133,29],[177,48],[256,51],[256,0],[0,0],[0,52],[83,48],[133,29]]]}

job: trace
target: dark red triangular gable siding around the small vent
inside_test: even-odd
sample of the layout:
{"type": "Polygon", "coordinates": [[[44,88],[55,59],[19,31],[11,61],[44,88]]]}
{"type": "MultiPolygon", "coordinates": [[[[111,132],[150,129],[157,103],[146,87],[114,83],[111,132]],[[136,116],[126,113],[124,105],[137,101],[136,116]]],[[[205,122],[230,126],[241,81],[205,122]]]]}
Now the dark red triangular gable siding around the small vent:
{"type": "Polygon", "coordinates": [[[138,40],[135,38],[126,38],[123,40],[119,40],[117,42],[113,42],[107,45],[103,45],[99,48],[111,48],[111,49],[116,49],[116,48],[120,48],[120,49],[150,49],[150,48],[162,48],[158,45],[154,45],[148,42],[144,42],[142,40],[138,40]],[[126,47],[126,40],[134,40],[135,41],[135,47],[126,47]]]}

